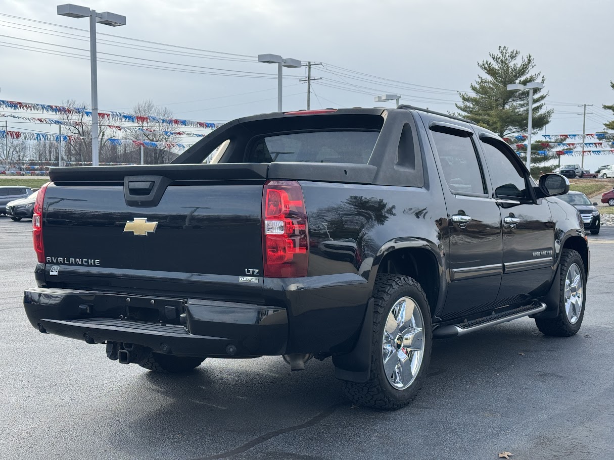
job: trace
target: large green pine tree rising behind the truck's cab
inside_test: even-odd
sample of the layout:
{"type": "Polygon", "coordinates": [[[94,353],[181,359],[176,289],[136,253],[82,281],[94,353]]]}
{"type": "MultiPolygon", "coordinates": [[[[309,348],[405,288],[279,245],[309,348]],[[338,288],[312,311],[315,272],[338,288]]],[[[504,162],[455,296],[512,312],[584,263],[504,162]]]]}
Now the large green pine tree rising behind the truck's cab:
{"type": "MultiPolygon", "coordinates": [[[[499,53],[489,53],[490,59],[478,63],[481,71],[471,85],[471,93],[459,93],[461,116],[496,132],[501,137],[526,134],[528,131],[529,90],[508,91],[511,83],[545,82],[541,72],[530,74],[535,67],[531,55],[520,56],[518,50],[499,47],[499,53]],[[518,57],[520,59],[518,61],[518,57]]],[[[548,93],[533,91],[533,132],[550,123],[554,110],[545,109],[548,93]]],[[[533,157],[533,155],[531,155],[533,157]]]]}

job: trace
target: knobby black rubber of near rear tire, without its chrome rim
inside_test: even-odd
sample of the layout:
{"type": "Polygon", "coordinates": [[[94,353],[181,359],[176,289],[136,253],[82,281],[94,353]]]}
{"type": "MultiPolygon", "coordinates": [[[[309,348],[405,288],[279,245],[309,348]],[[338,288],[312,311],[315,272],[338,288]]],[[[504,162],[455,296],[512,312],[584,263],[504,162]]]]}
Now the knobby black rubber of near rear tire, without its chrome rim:
{"type": "MultiPolygon", "coordinates": [[[[379,335],[378,335],[378,325],[379,321],[386,321],[387,318],[387,308],[386,304],[391,299],[395,291],[397,289],[402,288],[403,286],[413,286],[418,289],[418,291],[422,294],[423,298],[427,299],[422,286],[419,285],[416,280],[410,278],[405,275],[388,275],[388,274],[379,274],[375,280],[375,287],[373,288],[373,348],[374,350],[379,350],[381,348],[381,344],[379,344],[379,335]]],[[[426,318],[425,318],[426,321],[426,318]]],[[[430,326],[430,324],[429,324],[430,326]]],[[[426,324],[425,324],[426,329],[426,324]]],[[[430,360],[430,347],[426,347],[424,357],[422,358],[422,366],[428,366],[430,360]],[[428,350],[428,351],[427,351],[428,350]],[[428,356],[427,356],[428,353],[428,356]]],[[[397,401],[388,397],[386,391],[382,388],[381,380],[378,375],[378,362],[376,361],[375,353],[371,354],[371,372],[369,380],[364,383],[357,383],[354,381],[342,380],[341,385],[343,386],[343,390],[346,395],[354,402],[355,404],[375,407],[386,410],[397,410],[405,405],[410,404],[418,391],[422,387],[424,380],[426,377],[426,372],[421,376],[416,377],[413,385],[410,387],[413,389],[413,396],[411,399],[406,401],[397,401]]]]}

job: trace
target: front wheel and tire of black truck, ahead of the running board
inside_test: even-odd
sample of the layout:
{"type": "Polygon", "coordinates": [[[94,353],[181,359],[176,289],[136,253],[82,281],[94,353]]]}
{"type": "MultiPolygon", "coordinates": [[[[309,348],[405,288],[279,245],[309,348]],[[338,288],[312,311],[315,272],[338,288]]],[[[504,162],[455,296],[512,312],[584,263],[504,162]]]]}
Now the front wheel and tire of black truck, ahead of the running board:
{"type": "Polygon", "coordinates": [[[561,255],[561,269],[559,272],[560,303],[559,315],[556,318],[535,318],[537,329],[545,335],[554,337],[570,337],[580,330],[584,318],[586,304],[586,271],[584,262],[577,251],[564,249],[561,255]],[[569,278],[569,279],[568,279],[569,278]],[[566,299],[567,282],[572,289],[574,280],[581,282],[580,305],[578,305],[578,289],[575,294],[570,292],[569,304],[566,299]],[[579,309],[579,311],[578,311],[579,309]]]}

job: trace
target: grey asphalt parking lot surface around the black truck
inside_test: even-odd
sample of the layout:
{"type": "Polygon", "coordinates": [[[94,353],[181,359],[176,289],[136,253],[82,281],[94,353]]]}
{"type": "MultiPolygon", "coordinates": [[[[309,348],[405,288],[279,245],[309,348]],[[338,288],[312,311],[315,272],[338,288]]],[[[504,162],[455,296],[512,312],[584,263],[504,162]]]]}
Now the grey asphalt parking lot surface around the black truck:
{"type": "Polygon", "coordinates": [[[614,227],[589,236],[580,333],[528,318],[435,342],[429,378],[397,412],[356,408],[330,360],[208,359],[184,376],[106,358],[104,345],[40,334],[31,221],[0,216],[0,458],[614,458],[614,227]]]}

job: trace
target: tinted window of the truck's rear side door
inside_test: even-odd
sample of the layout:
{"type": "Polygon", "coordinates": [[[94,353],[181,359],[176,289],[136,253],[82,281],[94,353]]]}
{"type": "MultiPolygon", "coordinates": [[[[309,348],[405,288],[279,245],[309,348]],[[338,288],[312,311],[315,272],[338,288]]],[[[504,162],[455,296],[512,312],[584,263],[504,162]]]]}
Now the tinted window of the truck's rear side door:
{"type": "MultiPolygon", "coordinates": [[[[455,133],[457,131],[454,131],[455,133]]],[[[432,131],[443,176],[454,194],[484,194],[484,180],[470,135],[432,131]]]]}

